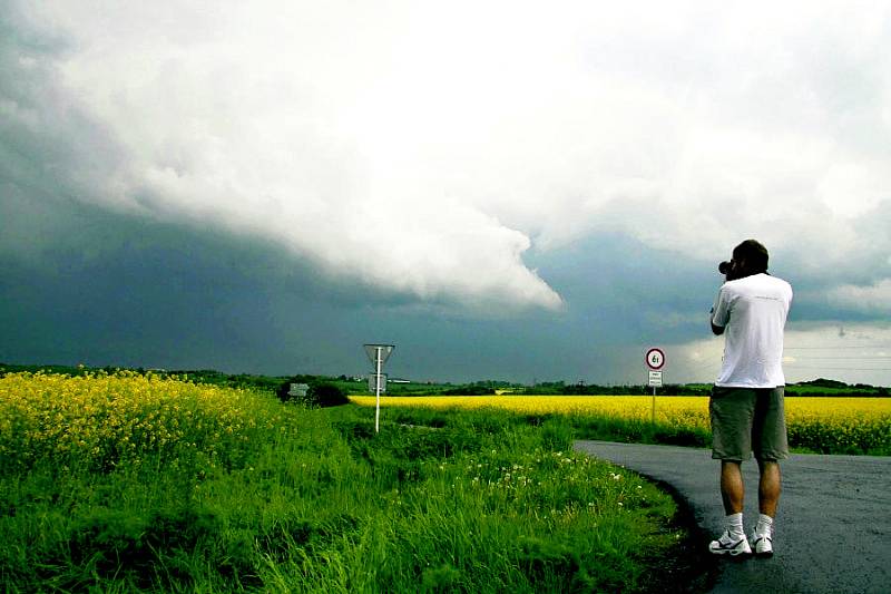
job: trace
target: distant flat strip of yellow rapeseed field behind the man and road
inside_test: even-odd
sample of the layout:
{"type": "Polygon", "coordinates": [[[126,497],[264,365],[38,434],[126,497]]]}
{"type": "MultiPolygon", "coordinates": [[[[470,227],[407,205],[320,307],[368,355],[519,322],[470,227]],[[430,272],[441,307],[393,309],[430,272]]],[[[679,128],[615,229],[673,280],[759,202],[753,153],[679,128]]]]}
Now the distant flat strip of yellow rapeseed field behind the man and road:
{"type": "MultiPolygon", "coordinates": [[[[372,396],[353,396],[374,406],[372,396]]],[[[382,406],[438,409],[506,409],[523,415],[558,413],[649,421],[649,396],[441,396],[383,397],[382,406]]],[[[891,451],[891,399],[785,399],[786,423],[793,447],[815,451],[891,451]]],[[[707,397],[656,397],[656,422],[689,430],[709,430],[707,397]]]]}

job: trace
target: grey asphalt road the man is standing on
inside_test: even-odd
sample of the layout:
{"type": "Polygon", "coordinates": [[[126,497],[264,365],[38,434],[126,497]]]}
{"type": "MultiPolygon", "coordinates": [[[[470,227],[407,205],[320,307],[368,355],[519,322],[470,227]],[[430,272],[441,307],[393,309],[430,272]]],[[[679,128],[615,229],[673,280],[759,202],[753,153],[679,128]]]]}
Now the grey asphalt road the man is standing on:
{"type": "MultiPolygon", "coordinates": [[[[608,441],[577,441],[576,449],[667,483],[707,539],[722,532],[719,462],[711,450],[608,441]]],[[[774,556],[716,559],[712,592],[891,593],[891,458],[792,455],[781,470],[774,556]]],[[[754,460],[743,462],[743,477],[748,534],[757,520],[754,460]]]]}

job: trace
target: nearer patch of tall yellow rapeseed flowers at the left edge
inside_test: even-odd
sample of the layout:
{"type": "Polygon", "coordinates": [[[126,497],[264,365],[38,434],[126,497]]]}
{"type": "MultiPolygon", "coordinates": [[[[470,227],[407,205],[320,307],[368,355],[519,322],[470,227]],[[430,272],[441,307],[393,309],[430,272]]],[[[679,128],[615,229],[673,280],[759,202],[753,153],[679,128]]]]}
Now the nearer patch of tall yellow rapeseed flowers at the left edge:
{"type": "Polygon", "coordinates": [[[252,392],[178,378],[11,373],[0,378],[0,469],[41,459],[109,469],[147,456],[213,467],[281,416],[252,392]]]}

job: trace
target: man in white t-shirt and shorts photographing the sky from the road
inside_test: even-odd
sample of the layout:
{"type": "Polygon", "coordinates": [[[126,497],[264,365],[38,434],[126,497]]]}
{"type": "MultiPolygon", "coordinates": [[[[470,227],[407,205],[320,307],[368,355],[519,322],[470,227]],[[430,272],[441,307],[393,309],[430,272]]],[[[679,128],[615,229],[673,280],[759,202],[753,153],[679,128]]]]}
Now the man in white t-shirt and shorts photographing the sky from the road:
{"type": "Polygon", "coordinates": [[[712,310],[712,331],[724,334],[724,362],[708,409],[712,458],[721,460],[726,529],[708,549],[716,555],[773,554],[773,518],[780,500],[779,460],[789,457],[783,410],[783,329],[792,286],[767,273],[767,250],[746,240],[723,262],[726,282],[712,310]],[[758,464],[758,522],[752,544],[743,529],[743,460],[758,464]]]}

